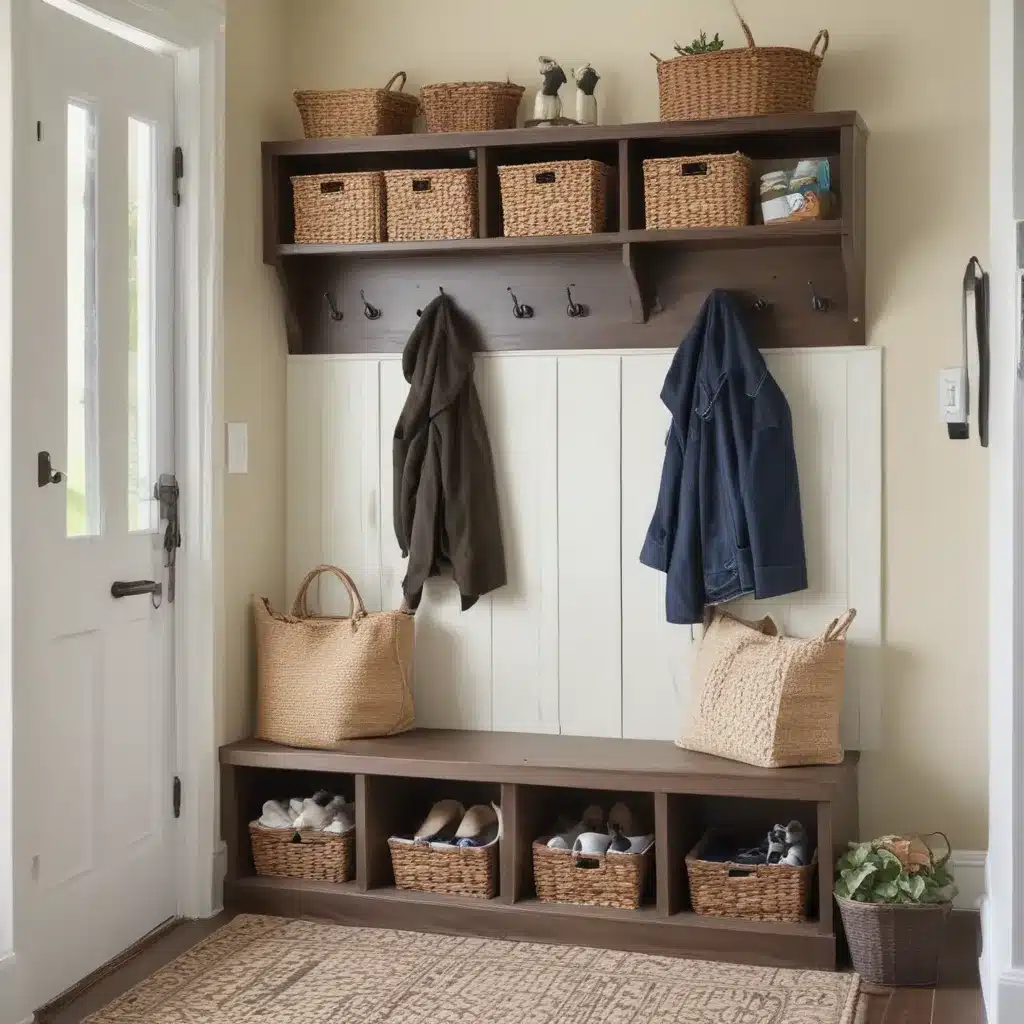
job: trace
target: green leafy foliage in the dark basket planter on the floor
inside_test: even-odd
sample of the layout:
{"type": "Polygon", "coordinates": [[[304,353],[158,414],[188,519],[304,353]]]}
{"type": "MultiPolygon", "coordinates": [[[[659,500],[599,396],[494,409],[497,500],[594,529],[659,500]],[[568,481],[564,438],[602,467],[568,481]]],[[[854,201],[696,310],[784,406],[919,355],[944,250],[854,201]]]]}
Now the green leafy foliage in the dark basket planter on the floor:
{"type": "Polygon", "coordinates": [[[936,855],[931,837],[882,836],[851,843],[836,865],[836,895],[858,903],[949,903],[956,886],[949,870],[949,841],[936,855]]]}

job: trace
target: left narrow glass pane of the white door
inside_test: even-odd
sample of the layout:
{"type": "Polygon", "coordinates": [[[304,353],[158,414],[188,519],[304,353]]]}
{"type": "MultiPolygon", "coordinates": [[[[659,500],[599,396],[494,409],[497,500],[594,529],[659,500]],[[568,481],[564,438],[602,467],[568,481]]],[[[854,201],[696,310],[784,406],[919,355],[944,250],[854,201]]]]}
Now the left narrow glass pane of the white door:
{"type": "Polygon", "coordinates": [[[99,532],[96,330],[96,119],[68,104],[69,537],[99,532]]]}

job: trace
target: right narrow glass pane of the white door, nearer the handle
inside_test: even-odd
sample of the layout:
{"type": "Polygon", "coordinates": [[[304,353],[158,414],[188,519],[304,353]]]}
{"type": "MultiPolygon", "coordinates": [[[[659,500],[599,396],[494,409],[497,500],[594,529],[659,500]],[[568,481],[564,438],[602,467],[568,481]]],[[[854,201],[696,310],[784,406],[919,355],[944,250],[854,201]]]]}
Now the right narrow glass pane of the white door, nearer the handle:
{"type": "Polygon", "coordinates": [[[128,121],[128,522],[156,529],[154,129],[128,121]]]}

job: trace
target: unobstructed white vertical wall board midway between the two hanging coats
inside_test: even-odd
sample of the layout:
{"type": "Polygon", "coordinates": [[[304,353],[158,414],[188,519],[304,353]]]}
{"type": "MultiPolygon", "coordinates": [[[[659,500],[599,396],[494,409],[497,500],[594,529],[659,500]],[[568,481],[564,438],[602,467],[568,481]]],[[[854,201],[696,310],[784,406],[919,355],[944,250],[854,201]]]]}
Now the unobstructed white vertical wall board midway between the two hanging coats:
{"type": "Polygon", "coordinates": [[[621,362],[558,358],[558,707],[572,735],[623,729],[621,362]]]}

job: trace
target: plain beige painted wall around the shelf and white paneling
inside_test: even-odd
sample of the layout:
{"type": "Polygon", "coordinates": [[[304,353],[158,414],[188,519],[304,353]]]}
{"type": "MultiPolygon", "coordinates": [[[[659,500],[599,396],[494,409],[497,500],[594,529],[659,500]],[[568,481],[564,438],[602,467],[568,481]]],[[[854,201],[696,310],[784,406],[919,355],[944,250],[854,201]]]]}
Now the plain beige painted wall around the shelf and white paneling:
{"type": "MultiPolygon", "coordinates": [[[[242,6],[232,0],[229,10],[242,6]]],[[[964,263],[986,250],[985,20],[955,0],[742,6],[765,44],[809,45],[827,27],[818,106],[859,110],[870,129],[867,300],[870,343],[886,348],[888,668],[884,745],[863,758],[862,830],[942,828],[954,846],[982,849],[986,461],[975,440],[944,439],[936,371],[957,358],[964,263]]],[[[741,41],[724,0],[291,0],[281,26],[273,4],[244,7],[244,18],[228,17],[225,378],[228,416],[248,418],[254,433],[252,473],[228,478],[225,503],[229,731],[243,728],[250,702],[244,600],[282,583],[284,342],[259,264],[257,142],[299,134],[290,90],[383,84],[399,68],[410,88],[506,75],[531,87],[544,52],[566,67],[594,63],[606,122],[647,121],[657,117],[649,50],[668,55],[673,40],[701,29],[741,41]]]]}

